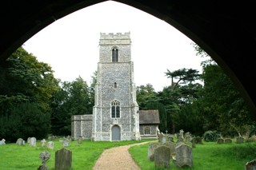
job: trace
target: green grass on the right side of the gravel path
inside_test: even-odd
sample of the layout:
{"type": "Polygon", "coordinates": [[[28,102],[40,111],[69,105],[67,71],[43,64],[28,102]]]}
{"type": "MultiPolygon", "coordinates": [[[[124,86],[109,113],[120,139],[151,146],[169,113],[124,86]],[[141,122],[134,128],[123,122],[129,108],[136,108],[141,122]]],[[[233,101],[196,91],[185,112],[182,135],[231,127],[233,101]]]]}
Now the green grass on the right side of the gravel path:
{"type": "MultiPolygon", "coordinates": [[[[134,161],[142,170],[155,170],[154,161],[147,160],[149,144],[129,148],[134,161]]],[[[193,170],[241,170],[245,164],[256,159],[256,142],[236,144],[217,144],[217,142],[203,142],[192,148],[193,168],[177,168],[170,160],[170,168],[160,169],[193,169],[193,170]]],[[[157,168],[159,169],[159,168],[157,168]]]]}

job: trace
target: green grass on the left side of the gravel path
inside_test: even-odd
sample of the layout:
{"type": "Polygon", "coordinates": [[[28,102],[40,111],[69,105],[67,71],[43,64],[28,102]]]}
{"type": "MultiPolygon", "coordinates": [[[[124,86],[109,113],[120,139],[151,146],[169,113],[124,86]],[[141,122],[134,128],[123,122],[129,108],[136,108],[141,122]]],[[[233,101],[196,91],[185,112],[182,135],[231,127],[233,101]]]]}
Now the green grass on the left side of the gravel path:
{"type": "MultiPolygon", "coordinates": [[[[37,147],[32,147],[27,143],[22,146],[18,146],[17,144],[0,145],[0,169],[35,170],[42,165],[39,154],[42,151],[48,151],[50,152],[50,159],[46,162],[46,165],[50,170],[54,170],[55,152],[62,148],[62,143],[58,140],[53,141],[54,149],[52,150],[47,147],[41,147],[41,140],[37,141],[37,147]]],[[[104,149],[145,141],[149,140],[116,142],[92,142],[90,140],[83,140],[82,144],[79,145],[77,141],[70,141],[70,146],[67,149],[72,151],[72,169],[90,170],[94,167],[96,160],[98,160],[104,149]]]]}

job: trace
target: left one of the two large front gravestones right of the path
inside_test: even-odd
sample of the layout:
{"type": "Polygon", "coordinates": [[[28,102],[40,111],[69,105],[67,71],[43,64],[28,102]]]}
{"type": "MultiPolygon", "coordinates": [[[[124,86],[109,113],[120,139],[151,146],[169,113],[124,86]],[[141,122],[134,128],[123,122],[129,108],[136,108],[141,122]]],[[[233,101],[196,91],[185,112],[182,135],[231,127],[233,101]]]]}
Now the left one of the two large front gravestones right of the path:
{"type": "Polygon", "coordinates": [[[154,167],[170,168],[170,149],[166,146],[158,146],[154,149],[154,167]]]}

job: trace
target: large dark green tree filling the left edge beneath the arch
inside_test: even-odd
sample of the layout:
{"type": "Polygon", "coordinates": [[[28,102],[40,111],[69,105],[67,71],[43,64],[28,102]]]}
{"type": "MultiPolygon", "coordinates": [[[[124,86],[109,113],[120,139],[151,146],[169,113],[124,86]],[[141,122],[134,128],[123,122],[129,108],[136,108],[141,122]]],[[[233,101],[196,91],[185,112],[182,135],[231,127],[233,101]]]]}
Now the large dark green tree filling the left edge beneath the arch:
{"type": "Polygon", "coordinates": [[[0,69],[0,138],[14,141],[17,137],[46,136],[50,130],[49,101],[58,89],[50,65],[20,47],[0,69]],[[16,128],[7,128],[10,125],[16,128]]]}

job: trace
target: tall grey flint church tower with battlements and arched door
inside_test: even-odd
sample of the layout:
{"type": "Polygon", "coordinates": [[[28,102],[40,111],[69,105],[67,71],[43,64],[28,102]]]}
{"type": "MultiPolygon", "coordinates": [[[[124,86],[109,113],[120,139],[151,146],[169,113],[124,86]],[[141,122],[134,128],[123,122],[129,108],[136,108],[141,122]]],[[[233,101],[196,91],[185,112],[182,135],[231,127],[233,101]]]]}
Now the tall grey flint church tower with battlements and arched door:
{"type": "Polygon", "coordinates": [[[100,34],[91,140],[140,140],[130,33],[100,34]]]}

